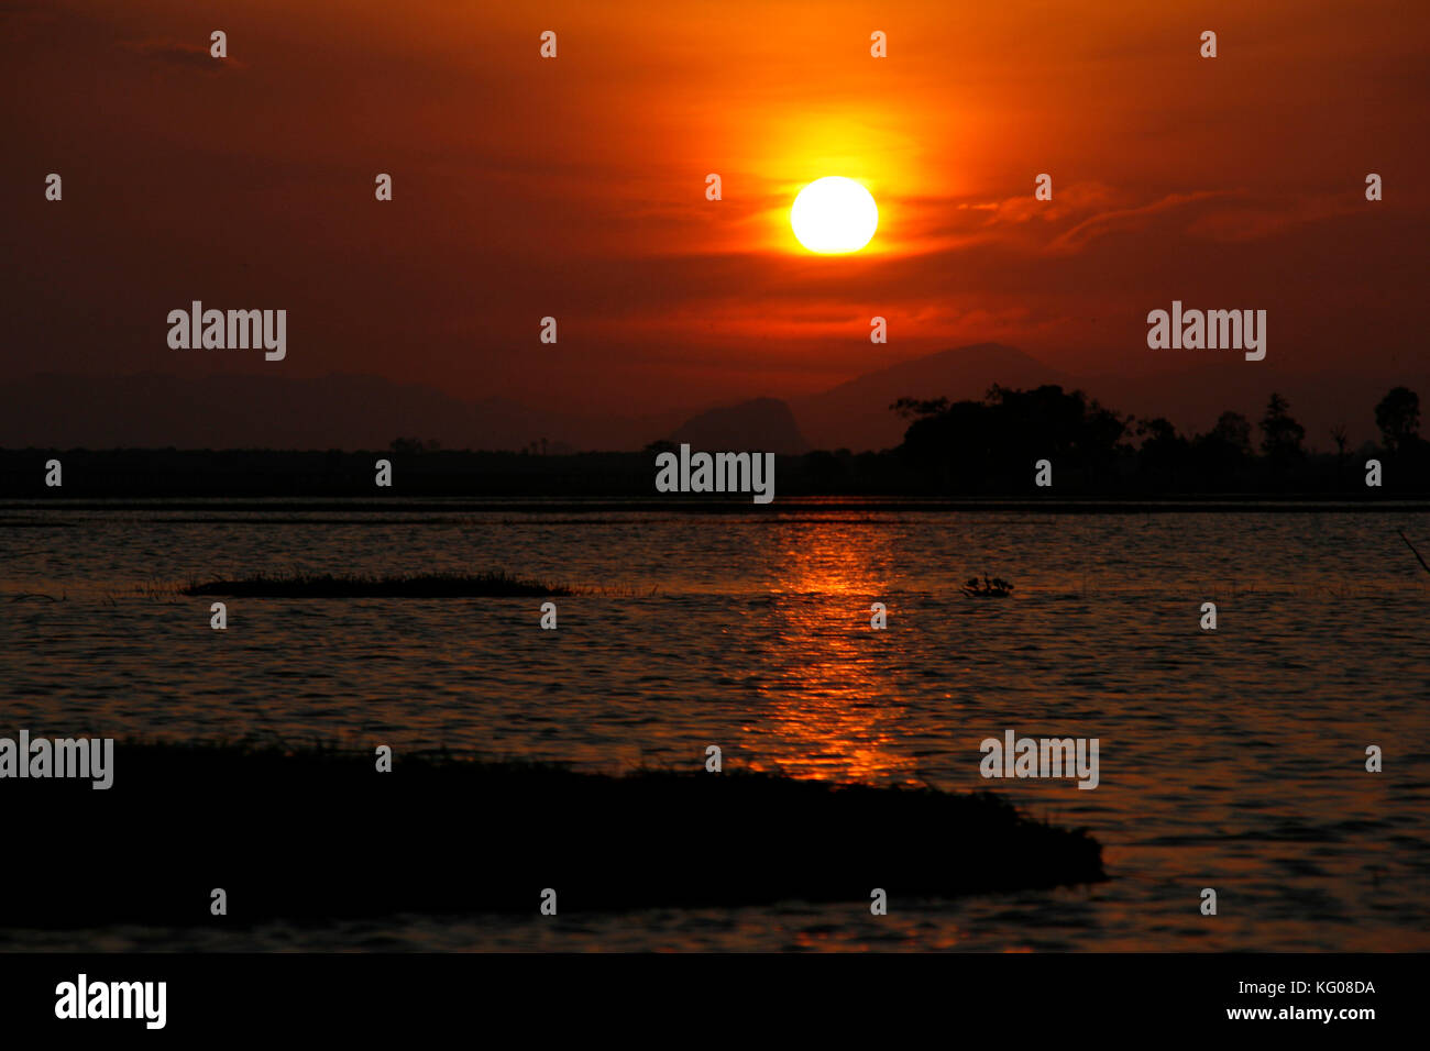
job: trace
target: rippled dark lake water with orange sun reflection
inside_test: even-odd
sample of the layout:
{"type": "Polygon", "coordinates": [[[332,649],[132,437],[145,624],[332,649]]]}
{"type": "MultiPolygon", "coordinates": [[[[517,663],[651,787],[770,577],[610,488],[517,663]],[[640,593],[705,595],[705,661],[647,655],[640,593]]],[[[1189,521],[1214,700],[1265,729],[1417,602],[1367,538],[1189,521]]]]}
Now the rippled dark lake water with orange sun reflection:
{"type": "MultiPolygon", "coordinates": [[[[888,917],[782,902],[523,919],[473,902],[317,931],[0,932],[0,948],[1430,949],[1430,575],[1397,536],[1430,553],[1427,515],[423,505],[0,502],[0,735],[272,734],[606,772],[696,768],[715,744],[726,769],[991,788],[1088,827],[1111,881],[922,902],[889,888],[888,917]],[[555,632],[541,599],[235,599],[214,632],[210,599],[173,589],[485,569],[586,593],[555,599],[555,632]],[[974,573],[1015,591],[967,599],[974,573]],[[1198,628],[1208,601],[1216,632],[1198,628]],[[982,779],[980,742],[1005,729],[1098,738],[1098,788],[982,779]]],[[[479,835],[482,814],[453,801],[453,822],[479,835]]]]}

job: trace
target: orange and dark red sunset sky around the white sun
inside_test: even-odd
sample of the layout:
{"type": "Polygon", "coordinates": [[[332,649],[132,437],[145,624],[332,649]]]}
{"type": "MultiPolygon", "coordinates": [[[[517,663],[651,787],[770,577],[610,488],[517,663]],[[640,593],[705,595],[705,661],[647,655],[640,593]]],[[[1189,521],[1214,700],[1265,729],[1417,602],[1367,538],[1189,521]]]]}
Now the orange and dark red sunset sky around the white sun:
{"type": "Polygon", "coordinates": [[[1145,346],[1173,299],[1267,309],[1281,366],[1389,370],[1423,345],[1427,26],[1409,0],[0,1],[0,375],[369,372],[631,410],[980,340],[1193,365],[1145,346]],[[792,240],[824,174],[878,199],[865,252],[792,240]],[[286,360],[170,350],[192,299],[287,309],[286,360]]]}

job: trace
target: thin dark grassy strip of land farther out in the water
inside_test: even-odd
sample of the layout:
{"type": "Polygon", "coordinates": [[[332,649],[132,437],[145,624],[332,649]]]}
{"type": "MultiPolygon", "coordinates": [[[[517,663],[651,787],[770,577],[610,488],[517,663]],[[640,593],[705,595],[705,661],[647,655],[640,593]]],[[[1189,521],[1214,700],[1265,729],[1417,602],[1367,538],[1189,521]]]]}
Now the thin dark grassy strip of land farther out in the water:
{"type": "Polygon", "coordinates": [[[410,576],[246,576],[240,581],[204,581],[180,589],[184,595],[232,595],[265,599],[465,599],[571,595],[559,583],[522,581],[506,573],[418,573],[410,576]]]}

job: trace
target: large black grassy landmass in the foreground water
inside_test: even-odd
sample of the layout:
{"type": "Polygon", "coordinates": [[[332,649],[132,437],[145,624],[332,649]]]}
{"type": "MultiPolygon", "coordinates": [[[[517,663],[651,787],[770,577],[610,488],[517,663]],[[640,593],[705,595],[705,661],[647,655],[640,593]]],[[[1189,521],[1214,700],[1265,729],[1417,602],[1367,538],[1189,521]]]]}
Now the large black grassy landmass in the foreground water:
{"type": "MultiPolygon", "coordinates": [[[[39,734],[39,731],[31,731],[39,734]]],[[[380,736],[375,738],[380,741],[380,736]]],[[[123,744],[113,786],[6,779],[23,815],[0,927],[243,927],[924,897],[1105,879],[1084,829],[991,794],[765,774],[623,776],[450,754],[123,744]],[[83,815],[77,819],[76,815],[83,815]],[[226,917],[210,892],[227,892],[226,917]]]]}

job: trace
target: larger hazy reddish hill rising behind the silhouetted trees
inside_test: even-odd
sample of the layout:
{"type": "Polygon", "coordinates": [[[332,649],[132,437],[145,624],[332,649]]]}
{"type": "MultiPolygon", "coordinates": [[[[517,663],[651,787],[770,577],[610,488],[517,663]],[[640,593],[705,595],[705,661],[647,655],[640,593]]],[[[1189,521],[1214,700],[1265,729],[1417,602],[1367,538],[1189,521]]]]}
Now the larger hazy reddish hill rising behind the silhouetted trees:
{"type": "Polygon", "coordinates": [[[982,398],[990,386],[1068,383],[1057,369],[1001,343],[941,350],[841,383],[821,395],[794,398],[789,408],[817,449],[889,449],[908,423],[889,412],[899,398],[982,398]]]}

